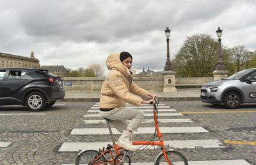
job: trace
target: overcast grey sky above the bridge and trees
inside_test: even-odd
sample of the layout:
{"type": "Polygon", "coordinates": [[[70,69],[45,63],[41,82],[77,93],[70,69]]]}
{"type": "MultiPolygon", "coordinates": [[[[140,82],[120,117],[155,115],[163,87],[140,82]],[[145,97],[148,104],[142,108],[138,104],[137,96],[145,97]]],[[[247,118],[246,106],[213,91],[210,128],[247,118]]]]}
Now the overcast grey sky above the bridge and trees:
{"type": "MultiPolygon", "coordinates": [[[[0,52],[30,56],[41,65],[87,68],[109,54],[130,52],[132,69],[162,71],[164,30],[170,27],[170,58],[198,33],[227,47],[256,50],[255,0],[0,0],[0,52]]],[[[106,69],[107,70],[107,69],[106,69]]]]}

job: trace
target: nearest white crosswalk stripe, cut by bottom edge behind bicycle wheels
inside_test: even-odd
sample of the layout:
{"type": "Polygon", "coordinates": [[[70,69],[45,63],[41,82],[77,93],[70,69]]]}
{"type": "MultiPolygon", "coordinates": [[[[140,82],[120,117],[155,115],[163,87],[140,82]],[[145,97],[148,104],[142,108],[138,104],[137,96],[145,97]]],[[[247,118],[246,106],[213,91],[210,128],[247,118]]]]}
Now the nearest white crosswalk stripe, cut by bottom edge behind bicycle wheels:
{"type": "MultiPolygon", "coordinates": [[[[132,162],[132,165],[154,165],[154,162],[132,162]]],[[[235,159],[235,160],[216,160],[216,161],[188,161],[189,165],[250,165],[244,159],[235,159]]],[[[61,164],[61,165],[74,165],[74,164],[61,164]]]]}

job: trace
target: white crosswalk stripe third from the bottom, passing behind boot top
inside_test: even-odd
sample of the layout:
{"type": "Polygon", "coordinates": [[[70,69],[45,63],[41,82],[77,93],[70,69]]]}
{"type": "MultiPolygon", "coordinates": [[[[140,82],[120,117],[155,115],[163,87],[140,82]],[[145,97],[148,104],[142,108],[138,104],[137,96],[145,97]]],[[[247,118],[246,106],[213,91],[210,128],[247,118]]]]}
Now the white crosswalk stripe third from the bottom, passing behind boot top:
{"type": "MultiPolygon", "coordinates": [[[[159,127],[163,133],[208,133],[203,127],[159,127]]],[[[134,134],[152,134],[155,127],[140,127],[134,134]]],[[[113,134],[120,134],[116,129],[112,129],[113,134]]],[[[109,134],[108,128],[74,128],[70,134],[109,134]]]]}

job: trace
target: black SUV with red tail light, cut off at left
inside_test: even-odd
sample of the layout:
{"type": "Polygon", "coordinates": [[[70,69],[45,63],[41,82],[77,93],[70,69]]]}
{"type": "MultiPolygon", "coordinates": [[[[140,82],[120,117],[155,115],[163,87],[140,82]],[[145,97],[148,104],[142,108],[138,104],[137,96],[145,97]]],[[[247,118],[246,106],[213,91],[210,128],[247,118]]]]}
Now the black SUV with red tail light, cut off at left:
{"type": "Polygon", "coordinates": [[[46,69],[0,68],[0,105],[24,105],[40,111],[64,97],[61,77],[46,69]]]}

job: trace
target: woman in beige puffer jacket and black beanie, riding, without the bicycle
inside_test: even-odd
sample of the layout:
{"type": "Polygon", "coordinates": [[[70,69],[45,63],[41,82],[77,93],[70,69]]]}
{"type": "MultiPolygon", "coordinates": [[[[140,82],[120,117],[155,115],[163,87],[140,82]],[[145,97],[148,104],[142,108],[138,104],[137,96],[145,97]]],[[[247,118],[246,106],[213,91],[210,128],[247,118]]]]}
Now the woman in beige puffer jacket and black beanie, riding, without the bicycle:
{"type": "Polygon", "coordinates": [[[106,66],[109,73],[101,89],[100,115],[111,120],[111,124],[122,133],[117,145],[126,150],[136,151],[138,148],[131,143],[132,131],[138,130],[144,113],[140,110],[126,108],[125,103],[140,106],[140,104],[150,104],[152,101],[155,104],[154,97],[158,98],[158,96],[150,94],[132,82],[136,71],[131,70],[132,55],[128,52],[109,55],[106,66]],[[141,97],[147,96],[152,99],[148,101],[141,99],[141,97]],[[127,120],[131,120],[131,122],[128,123],[127,120]]]}

